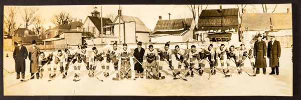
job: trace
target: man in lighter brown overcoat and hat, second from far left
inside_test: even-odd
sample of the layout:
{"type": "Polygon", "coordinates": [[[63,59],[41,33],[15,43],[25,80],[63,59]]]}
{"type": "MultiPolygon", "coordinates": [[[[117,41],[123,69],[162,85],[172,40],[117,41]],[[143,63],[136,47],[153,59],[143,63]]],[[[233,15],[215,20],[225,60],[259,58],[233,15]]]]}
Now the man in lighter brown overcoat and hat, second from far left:
{"type": "MultiPolygon", "coordinates": [[[[32,47],[30,47],[28,51],[28,58],[30,60],[30,73],[31,76],[33,76],[37,72],[37,79],[40,77],[40,73],[38,72],[40,67],[39,67],[39,56],[40,56],[40,48],[36,46],[36,41],[33,40],[32,42],[32,47]]],[[[30,79],[34,79],[35,76],[31,77],[30,79]]]]}

